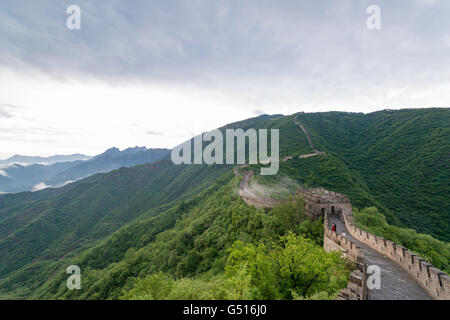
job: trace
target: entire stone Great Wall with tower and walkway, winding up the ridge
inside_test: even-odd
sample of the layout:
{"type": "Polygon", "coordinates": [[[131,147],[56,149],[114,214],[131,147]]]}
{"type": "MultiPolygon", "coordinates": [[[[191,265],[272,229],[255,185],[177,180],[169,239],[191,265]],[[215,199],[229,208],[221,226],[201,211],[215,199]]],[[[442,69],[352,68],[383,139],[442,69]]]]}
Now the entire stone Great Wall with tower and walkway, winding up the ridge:
{"type": "MultiPolygon", "coordinates": [[[[318,152],[306,129],[294,119],[308,137],[311,148],[318,152]]],[[[323,154],[323,153],[320,153],[323,154]]],[[[312,156],[312,155],[309,155],[312,156]]],[[[285,157],[283,161],[292,159],[285,157]]],[[[239,169],[235,171],[239,175],[239,169]]],[[[279,200],[259,197],[249,190],[252,171],[245,171],[239,195],[248,205],[273,207],[279,200]]],[[[347,195],[323,188],[298,190],[305,201],[305,213],[310,219],[324,220],[324,249],[339,250],[354,262],[346,289],[341,290],[341,300],[450,300],[450,277],[408,249],[355,226],[350,198],[347,195]],[[336,225],[336,231],[331,225],[336,225]],[[381,288],[368,289],[367,268],[377,266],[381,288]]]]}

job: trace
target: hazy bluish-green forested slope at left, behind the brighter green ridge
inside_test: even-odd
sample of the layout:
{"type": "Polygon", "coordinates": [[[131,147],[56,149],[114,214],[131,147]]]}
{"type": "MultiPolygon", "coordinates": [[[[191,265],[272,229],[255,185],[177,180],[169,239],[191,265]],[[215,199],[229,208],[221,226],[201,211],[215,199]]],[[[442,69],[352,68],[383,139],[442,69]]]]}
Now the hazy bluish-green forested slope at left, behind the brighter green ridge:
{"type": "Polygon", "coordinates": [[[4,195],[0,275],[92,246],[135,218],[157,215],[224,170],[177,167],[163,160],[95,175],[62,189],[4,195]]]}

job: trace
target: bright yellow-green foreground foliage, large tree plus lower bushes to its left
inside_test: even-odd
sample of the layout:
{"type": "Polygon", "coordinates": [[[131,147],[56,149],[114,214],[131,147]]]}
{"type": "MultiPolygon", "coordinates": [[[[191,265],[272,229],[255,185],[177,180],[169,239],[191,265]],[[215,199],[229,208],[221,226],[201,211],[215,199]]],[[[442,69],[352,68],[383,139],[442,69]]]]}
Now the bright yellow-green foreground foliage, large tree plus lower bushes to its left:
{"type": "Polygon", "coordinates": [[[270,249],[235,241],[225,273],[173,280],[163,273],[138,279],[122,299],[330,299],[347,281],[338,252],[326,253],[310,239],[288,233],[270,249]]]}

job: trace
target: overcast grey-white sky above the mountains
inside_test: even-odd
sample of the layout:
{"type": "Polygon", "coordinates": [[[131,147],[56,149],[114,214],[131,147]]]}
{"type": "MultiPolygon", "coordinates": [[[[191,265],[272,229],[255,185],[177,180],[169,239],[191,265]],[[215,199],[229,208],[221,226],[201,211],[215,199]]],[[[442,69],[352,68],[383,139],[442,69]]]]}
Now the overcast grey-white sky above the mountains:
{"type": "Polygon", "coordinates": [[[448,0],[2,0],[0,158],[173,147],[262,113],[449,107],[449,57],[448,0]]]}

